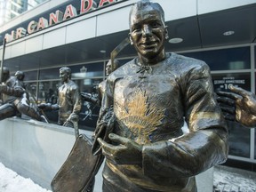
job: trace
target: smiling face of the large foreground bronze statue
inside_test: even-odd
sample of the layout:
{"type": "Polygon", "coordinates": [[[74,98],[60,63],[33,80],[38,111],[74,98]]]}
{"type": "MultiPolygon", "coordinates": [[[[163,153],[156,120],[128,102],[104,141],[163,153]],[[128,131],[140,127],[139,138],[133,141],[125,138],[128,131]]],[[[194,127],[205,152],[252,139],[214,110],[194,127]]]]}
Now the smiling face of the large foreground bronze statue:
{"type": "Polygon", "coordinates": [[[130,40],[137,52],[148,59],[164,50],[165,26],[160,12],[148,6],[132,12],[130,40]]]}

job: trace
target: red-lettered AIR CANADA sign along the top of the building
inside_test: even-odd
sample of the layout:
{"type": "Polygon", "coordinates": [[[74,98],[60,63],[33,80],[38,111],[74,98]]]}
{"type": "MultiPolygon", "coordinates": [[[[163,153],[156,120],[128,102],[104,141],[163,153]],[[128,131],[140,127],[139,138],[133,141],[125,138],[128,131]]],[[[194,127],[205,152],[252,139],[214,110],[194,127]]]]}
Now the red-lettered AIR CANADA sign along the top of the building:
{"type": "MultiPolygon", "coordinates": [[[[100,0],[100,3],[97,4],[93,0],[80,0],[80,12],[79,15],[85,14],[87,12],[95,11],[103,6],[108,4],[115,4],[118,0],[100,0]]],[[[120,0],[119,0],[120,1],[120,0]]],[[[65,12],[60,12],[60,10],[56,10],[55,12],[51,12],[49,14],[49,19],[45,19],[44,17],[40,17],[38,20],[28,21],[27,28],[16,28],[12,30],[10,34],[6,33],[4,38],[6,39],[6,43],[12,42],[13,40],[20,39],[23,36],[28,36],[30,34],[35,33],[38,30],[42,30],[44,28],[49,28],[57,23],[63,22],[65,20],[69,20],[71,18],[75,18],[78,15],[76,7],[72,4],[68,4],[66,6],[65,12]]]]}

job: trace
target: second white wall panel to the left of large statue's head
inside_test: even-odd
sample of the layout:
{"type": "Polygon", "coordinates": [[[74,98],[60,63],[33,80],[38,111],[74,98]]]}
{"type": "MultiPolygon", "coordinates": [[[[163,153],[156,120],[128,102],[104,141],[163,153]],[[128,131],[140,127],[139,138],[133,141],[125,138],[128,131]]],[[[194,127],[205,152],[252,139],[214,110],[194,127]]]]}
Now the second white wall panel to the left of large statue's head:
{"type": "Polygon", "coordinates": [[[96,17],[80,20],[67,26],[66,44],[95,37],[96,17]]]}

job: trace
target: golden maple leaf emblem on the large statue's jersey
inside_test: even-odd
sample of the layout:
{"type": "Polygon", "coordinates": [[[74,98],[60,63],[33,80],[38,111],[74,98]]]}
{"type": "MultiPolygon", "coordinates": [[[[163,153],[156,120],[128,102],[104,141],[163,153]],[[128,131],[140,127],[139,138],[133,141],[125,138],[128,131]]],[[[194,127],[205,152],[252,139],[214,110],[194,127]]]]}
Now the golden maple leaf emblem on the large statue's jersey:
{"type": "Polygon", "coordinates": [[[125,101],[125,106],[116,106],[116,116],[132,132],[134,141],[140,144],[150,142],[149,135],[164,118],[164,109],[149,103],[146,91],[135,91],[125,101]]]}

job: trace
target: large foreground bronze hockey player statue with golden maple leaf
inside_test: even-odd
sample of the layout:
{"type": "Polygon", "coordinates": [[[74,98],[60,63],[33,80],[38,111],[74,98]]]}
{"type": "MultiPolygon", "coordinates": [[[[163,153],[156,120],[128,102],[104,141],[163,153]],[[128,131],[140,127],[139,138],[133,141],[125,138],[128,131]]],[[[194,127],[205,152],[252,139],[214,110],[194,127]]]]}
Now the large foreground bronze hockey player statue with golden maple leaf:
{"type": "Polygon", "coordinates": [[[159,4],[141,0],[129,19],[138,57],[108,76],[92,146],[106,157],[103,191],[196,192],[196,174],[228,156],[210,69],[164,51],[168,32],[159,4]]]}

